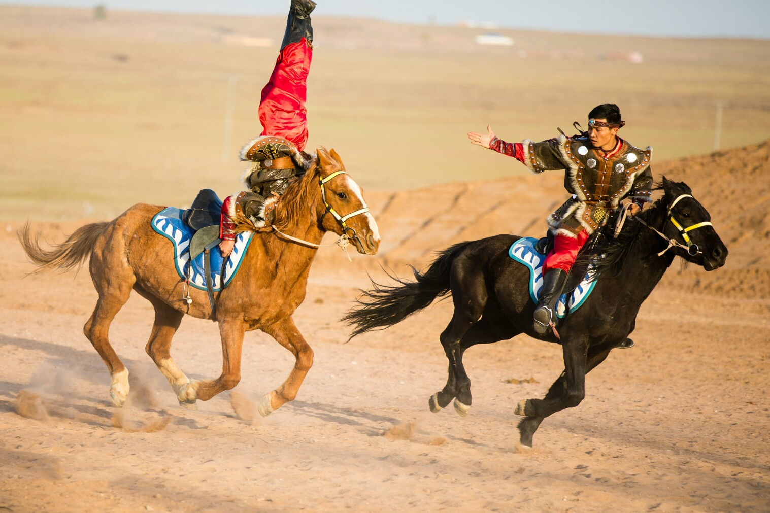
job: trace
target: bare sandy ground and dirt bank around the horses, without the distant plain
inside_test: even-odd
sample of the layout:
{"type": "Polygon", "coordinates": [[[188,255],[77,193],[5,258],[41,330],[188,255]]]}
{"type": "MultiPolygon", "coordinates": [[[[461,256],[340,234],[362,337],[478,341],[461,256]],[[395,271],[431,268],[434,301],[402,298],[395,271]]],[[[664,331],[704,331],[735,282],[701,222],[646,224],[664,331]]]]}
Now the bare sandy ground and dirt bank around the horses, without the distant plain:
{"type": "MultiPolygon", "coordinates": [[[[760,243],[738,232],[768,209],[767,181],[749,190],[745,172],[762,156],[755,173],[768,172],[768,147],[659,166],[688,169],[675,178],[699,176],[695,194],[730,247],[728,264],[714,273],[672,266],[642,307],[637,346],[614,350],[589,375],[583,403],[548,418],[531,451],[517,448],[513,407],[544,394],[561,371],[559,347],[520,336],[469,350],[474,406],[461,418],[451,408],[427,411],[446,378],[437,335],[449,303],[350,344],[337,319],[366,287],[367,270],[382,276],[380,264],[404,274],[403,263],[427,263],[430,250],[495,233],[500,223],[537,234],[528,206],[553,192],[555,174],[370,195],[381,254],[349,264],[336,248],[320,251],[295,316],[315,365],[296,401],[266,419],[256,400],[288,373],[286,350],[247,334],[238,387],[183,410],[144,354],[152,311],[140,297],[112,324],[112,344],[132,372],[129,404],[112,407],[108,374],[82,335],[95,301],[87,270],[20,279],[32,267],[15,242],[18,225],[8,225],[0,508],[767,511],[768,226],[753,227],[754,236],[764,230],[760,243]],[[742,209],[709,199],[712,167],[748,194],[742,209]],[[494,207],[478,213],[484,191],[494,207]]],[[[79,223],[39,227],[61,240],[79,223]]],[[[214,324],[188,318],[173,354],[191,377],[214,377],[217,339],[214,324]]]]}

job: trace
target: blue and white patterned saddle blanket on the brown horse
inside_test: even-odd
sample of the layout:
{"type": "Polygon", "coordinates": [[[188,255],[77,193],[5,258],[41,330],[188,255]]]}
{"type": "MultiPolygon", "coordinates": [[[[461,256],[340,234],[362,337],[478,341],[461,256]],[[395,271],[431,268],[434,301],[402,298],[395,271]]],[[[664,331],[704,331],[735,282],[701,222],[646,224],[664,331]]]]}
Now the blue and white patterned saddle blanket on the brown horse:
{"type": "MultiPolygon", "coordinates": [[[[179,277],[182,280],[187,275],[187,269],[192,265],[190,273],[190,285],[196,289],[206,290],[206,271],[203,267],[203,259],[206,257],[206,253],[200,253],[195,260],[190,263],[189,258],[189,245],[192,240],[192,235],[195,233],[192,228],[182,222],[182,209],[169,206],[168,208],[161,210],[152,218],[152,229],[160,233],[166,239],[170,240],[174,245],[174,266],[176,272],[179,273],[179,277]]],[[[224,267],[224,277],[222,276],[222,252],[219,250],[219,246],[214,246],[209,252],[211,253],[211,273],[213,274],[213,290],[219,291],[227,287],[230,281],[233,280],[240,264],[243,262],[243,257],[246,255],[246,248],[251,243],[251,238],[254,235],[253,232],[242,232],[236,236],[236,244],[233,247],[233,253],[230,253],[227,258],[227,263],[224,267]]]]}

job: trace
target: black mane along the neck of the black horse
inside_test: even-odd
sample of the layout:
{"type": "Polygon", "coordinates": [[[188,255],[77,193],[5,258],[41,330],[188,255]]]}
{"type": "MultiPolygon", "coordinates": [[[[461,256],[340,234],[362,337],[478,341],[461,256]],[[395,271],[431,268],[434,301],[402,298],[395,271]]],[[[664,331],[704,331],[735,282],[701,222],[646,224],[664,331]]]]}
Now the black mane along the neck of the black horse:
{"type": "Polygon", "coordinates": [[[661,179],[661,182],[654,184],[652,190],[662,190],[664,195],[655,200],[652,206],[644,210],[644,212],[628,217],[623,230],[621,230],[621,233],[618,233],[617,237],[613,234],[614,225],[611,224],[602,226],[597,233],[594,233],[592,237],[595,237],[594,241],[589,241],[592,246],[578,257],[581,263],[591,264],[591,279],[596,280],[602,274],[618,276],[628,253],[631,252],[631,248],[638,240],[641,229],[644,228],[640,220],[647,224],[653,223],[653,220],[659,216],[661,210],[668,209],[672,198],[680,194],[691,193],[691,189],[686,183],[671,182],[665,176],[661,179]]]}

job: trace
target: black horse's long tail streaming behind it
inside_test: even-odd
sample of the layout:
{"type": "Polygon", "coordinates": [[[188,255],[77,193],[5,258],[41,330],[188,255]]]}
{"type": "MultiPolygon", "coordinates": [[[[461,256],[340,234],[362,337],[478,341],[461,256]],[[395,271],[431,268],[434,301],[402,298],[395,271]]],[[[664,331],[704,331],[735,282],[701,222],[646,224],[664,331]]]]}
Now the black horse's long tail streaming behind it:
{"type": "Polygon", "coordinates": [[[373,290],[363,290],[357,299],[358,306],[353,307],[342,318],[348,326],[356,326],[350,338],[370,330],[384,330],[400,323],[433,303],[437,297],[447,295],[450,291],[449,275],[452,262],[468,244],[470,242],[457,243],[439,253],[439,257],[430,264],[425,273],[420,273],[412,267],[417,281],[403,280],[390,273],[388,276],[400,285],[382,285],[372,281],[373,290]]]}

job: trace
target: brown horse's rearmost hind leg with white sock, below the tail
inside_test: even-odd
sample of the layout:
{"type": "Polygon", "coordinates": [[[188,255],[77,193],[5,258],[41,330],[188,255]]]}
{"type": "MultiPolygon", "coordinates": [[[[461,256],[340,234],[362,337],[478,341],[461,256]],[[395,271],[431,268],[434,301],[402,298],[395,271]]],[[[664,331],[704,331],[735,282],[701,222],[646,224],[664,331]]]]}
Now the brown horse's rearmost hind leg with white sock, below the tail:
{"type": "Polygon", "coordinates": [[[99,260],[92,259],[91,276],[99,293],[99,300],[93,314],[83,326],[83,333],[107,366],[111,378],[109,397],[112,404],[122,407],[129,397],[129,370],[109,344],[109,325],[129,300],[136,277],[128,267],[124,267],[122,270],[111,269],[107,279],[99,263],[99,260]]]}

